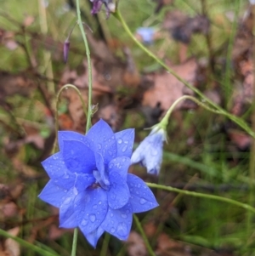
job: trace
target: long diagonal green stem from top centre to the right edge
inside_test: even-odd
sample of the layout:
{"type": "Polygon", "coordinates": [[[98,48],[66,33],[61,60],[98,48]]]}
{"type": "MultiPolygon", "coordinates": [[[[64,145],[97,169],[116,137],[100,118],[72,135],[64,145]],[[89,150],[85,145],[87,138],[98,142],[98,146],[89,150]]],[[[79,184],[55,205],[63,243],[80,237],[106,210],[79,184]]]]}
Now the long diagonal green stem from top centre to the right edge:
{"type": "Polygon", "coordinates": [[[186,85],[188,88],[190,88],[195,94],[198,94],[203,100],[206,100],[209,105],[212,105],[217,111],[219,111],[222,115],[225,117],[228,117],[233,122],[237,123],[241,128],[243,128],[247,134],[250,134],[253,138],[255,138],[255,133],[252,131],[251,128],[244,122],[240,117],[235,117],[231,114],[229,114],[227,111],[224,111],[223,108],[221,108],[219,105],[212,102],[212,100],[208,99],[206,95],[202,94],[201,91],[194,86],[192,86],[189,82],[186,82],[182,77],[179,77],[178,74],[173,71],[169,66],[167,66],[162,60],[158,59],[155,54],[151,53],[148,48],[145,48],[142,43],[140,43],[136,37],[133,36],[133,33],[130,31],[129,27],[127,26],[127,23],[122,18],[122,14],[117,9],[113,15],[116,17],[117,20],[119,20],[122,23],[122,26],[124,30],[127,32],[127,34],[133,39],[133,41],[141,48],[146,54],[148,54],[153,60],[156,60],[157,63],[159,63],[162,67],[164,67],[170,74],[172,74],[174,77],[178,79],[178,81],[183,82],[184,85],[186,85]]]}

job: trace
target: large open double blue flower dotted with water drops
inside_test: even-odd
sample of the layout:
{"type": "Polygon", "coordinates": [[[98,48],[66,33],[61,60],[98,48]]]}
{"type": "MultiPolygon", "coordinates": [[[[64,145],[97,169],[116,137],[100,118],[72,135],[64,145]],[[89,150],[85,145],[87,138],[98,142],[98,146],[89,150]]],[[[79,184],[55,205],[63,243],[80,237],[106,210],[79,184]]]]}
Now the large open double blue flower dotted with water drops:
{"type": "Polygon", "coordinates": [[[100,120],[86,135],[59,132],[59,152],[42,162],[50,180],[39,197],[59,208],[60,227],[79,227],[94,247],[104,231],[126,240],[132,214],[158,206],[144,181],[127,174],[133,137],[100,120]]]}

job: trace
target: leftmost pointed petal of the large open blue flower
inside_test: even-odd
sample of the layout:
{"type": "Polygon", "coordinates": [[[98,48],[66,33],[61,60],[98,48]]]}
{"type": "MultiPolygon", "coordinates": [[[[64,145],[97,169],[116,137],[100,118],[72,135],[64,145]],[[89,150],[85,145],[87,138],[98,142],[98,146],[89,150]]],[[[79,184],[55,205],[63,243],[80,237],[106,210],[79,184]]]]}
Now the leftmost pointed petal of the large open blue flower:
{"type": "Polygon", "coordinates": [[[66,194],[67,190],[55,185],[50,179],[38,197],[42,199],[42,201],[48,202],[54,207],[59,208],[62,201],[65,200],[66,194]]]}

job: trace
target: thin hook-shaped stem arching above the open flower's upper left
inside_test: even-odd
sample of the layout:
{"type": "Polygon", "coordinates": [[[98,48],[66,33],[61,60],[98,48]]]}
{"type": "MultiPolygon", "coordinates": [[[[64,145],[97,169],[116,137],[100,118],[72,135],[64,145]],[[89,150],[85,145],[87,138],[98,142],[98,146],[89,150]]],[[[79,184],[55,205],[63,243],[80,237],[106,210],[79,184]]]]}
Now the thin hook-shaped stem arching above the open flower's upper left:
{"type": "Polygon", "coordinates": [[[82,94],[79,91],[79,89],[75,85],[73,85],[71,83],[67,83],[62,88],[60,88],[59,89],[59,93],[57,94],[56,111],[55,111],[55,132],[56,132],[56,138],[54,140],[54,150],[53,150],[53,153],[57,151],[57,133],[59,131],[59,112],[58,112],[58,109],[59,109],[60,95],[61,95],[61,93],[65,89],[68,89],[68,88],[73,88],[77,92],[80,100],[82,101],[83,111],[84,111],[85,114],[87,114],[87,117],[88,117],[87,108],[86,108],[84,100],[82,99],[82,94]]]}

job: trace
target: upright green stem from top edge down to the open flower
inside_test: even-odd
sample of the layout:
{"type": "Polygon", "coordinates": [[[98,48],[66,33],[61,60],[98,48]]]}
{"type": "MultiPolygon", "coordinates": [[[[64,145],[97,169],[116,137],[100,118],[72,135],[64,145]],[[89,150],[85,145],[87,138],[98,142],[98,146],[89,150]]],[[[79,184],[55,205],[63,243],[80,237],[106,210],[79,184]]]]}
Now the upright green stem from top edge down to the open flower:
{"type": "Polygon", "coordinates": [[[77,24],[82,32],[82,39],[86,49],[87,61],[88,61],[88,115],[87,115],[87,124],[86,124],[86,133],[88,133],[88,129],[91,127],[91,117],[92,117],[92,66],[90,60],[90,51],[88,48],[88,40],[82,25],[82,18],[81,18],[81,9],[80,9],[80,1],[77,0],[77,24]]]}

